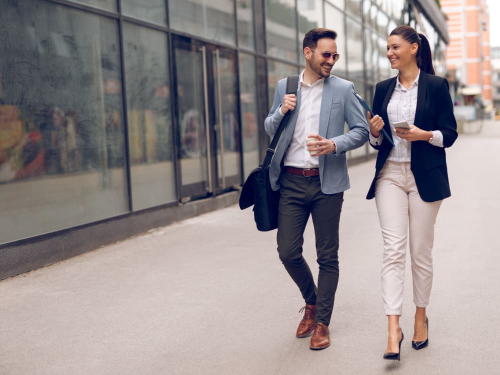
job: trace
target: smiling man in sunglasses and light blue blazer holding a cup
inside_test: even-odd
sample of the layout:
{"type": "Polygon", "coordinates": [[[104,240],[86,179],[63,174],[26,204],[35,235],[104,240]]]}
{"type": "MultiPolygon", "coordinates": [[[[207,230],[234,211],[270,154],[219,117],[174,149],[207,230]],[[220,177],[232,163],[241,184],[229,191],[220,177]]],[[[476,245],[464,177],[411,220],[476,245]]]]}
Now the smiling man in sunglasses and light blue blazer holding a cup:
{"type": "Polygon", "coordinates": [[[264,121],[265,131],[272,136],[284,114],[295,109],[276,146],[269,175],[272,188],[280,188],[279,258],[305,300],[296,336],[306,337],[313,332],[311,349],[330,345],[328,324],[338,283],[338,223],[343,191],[349,188],[345,152],[368,140],[366,119],[352,93],[354,85],[330,75],[339,58],[335,38],[336,32],[325,28],[314,28],[305,34],[305,68],[300,74],[297,95],[283,96],[286,79],[281,79],[264,121]],[[345,134],[344,122],[349,127],[345,134]],[[307,142],[308,148],[307,137],[314,138],[307,142]],[[302,257],[309,215],[319,264],[317,288],[302,257]]]}

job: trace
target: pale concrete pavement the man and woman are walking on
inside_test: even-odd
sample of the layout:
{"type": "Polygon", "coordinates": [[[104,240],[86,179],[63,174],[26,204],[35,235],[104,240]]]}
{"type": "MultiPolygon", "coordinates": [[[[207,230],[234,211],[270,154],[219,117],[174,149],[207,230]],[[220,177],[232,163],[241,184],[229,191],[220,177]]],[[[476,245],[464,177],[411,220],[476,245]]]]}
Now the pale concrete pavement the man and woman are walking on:
{"type": "MultiPolygon", "coordinates": [[[[250,209],[204,214],[0,282],[0,374],[500,373],[500,122],[447,150],[429,346],[413,350],[409,259],[401,361],[382,359],[374,160],[349,168],[329,348],[294,335],[303,305],[275,231],[250,209]]],[[[304,255],[317,274],[312,225],[304,255]]]]}

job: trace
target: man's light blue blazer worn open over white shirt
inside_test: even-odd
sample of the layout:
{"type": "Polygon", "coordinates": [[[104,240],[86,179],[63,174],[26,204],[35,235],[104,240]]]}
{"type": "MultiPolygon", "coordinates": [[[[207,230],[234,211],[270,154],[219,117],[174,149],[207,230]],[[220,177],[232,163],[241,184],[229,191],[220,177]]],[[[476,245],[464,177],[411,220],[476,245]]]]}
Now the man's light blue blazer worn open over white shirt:
{"type": "MultiPolygon", "coordinates": [[[[269,136],[274,135],[283,118],[279,108],[285,90],[286,78],[283,78],[278,81],[271,110],[264,120],[264,128],[269,136]]],[[[334,75],[324,79],[319,111],[319,135],[333,140],[336,146],[335,153],[318,156],[321,191],[325,194],[334,194],[350,187],[345,152],[362,146],[368,140],[368,124],[353,91],[354,84],[348,80],[334,75]],[[345,122],[349,131],[344,134],[345,122]]],[[[291,112],[270,163],[269,177],[273,190],[279,189],[281,160],[290,144],[299,108],[300,83],[295,109],[291,112]]]]}

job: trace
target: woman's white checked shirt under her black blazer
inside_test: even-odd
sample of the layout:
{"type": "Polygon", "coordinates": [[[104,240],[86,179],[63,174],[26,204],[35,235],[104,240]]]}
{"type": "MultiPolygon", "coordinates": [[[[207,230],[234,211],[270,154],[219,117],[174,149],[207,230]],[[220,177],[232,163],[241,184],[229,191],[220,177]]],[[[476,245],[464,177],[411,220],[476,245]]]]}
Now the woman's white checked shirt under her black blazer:
{"type": "MultiPolygon", "coordinates": [[[[392,139],[394,141],[394,147],[390,150],[387,160],[397,162],[411,161],[411,141],[399,138],[392,124],[398,121],[406,121],[408,124],[414,124],[419,77],[420,71],[418,71],[411,86],[406,89],[399,82],[399,75],[397,76],[396,85],[390,96],[389,103],[387,104],[387,117],[389,119],[392,139]]],[[[370,133],[369,136],[371,144],[380,145],[382,143],[383,134],[380,134],[379,137],[374,137],[370,133]]],[[[443,147],[441,131],[432,130],[432,140],[430,144],[437,147],[443,147]]]]}

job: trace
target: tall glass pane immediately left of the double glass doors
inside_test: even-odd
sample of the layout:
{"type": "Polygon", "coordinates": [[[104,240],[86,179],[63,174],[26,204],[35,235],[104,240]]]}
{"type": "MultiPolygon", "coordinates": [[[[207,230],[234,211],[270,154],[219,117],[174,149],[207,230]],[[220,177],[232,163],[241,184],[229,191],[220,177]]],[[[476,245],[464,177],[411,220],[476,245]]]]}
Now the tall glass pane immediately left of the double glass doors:
{"type": "Polygon", "coordinates": [[[176,200],[167,38],[123,25],[130,180],[134,210],[176,200]]]}

